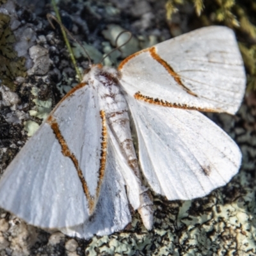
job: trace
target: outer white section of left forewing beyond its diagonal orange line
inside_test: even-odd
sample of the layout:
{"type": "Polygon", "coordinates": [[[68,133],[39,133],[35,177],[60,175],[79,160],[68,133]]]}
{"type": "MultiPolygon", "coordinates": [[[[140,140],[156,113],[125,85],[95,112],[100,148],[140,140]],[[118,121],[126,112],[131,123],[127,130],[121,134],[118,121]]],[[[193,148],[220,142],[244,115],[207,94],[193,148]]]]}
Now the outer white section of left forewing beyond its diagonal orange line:
{"type": "Polygon", "coordinates": [[[8,166],[0,194],[1,207],[40,227],[76,225],[88,218],[74,165],[63,157],[48,124],[40,127],[8,166]]]}

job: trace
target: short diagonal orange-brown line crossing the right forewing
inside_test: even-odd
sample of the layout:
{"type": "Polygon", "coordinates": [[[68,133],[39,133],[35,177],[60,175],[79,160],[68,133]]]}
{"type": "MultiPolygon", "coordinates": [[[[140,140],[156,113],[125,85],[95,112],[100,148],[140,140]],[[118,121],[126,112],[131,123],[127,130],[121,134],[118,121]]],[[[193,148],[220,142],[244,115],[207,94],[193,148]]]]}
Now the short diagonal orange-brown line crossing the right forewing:
{"type": "Polygon", "coordinates": [[[189,88],[184,86],[184,84],[180,79],[180,76],[173,70],[173,68],[156,53],[156,47],[151,47],[150,49],[148,49],[148,51],[150,52],[150,55],[152,56],[152,58],[154,58],[154,60],[160,63],[168,71],[168,73],[174,78],[177,84],[179,84],[190,95],[197,97],[195,93],[191,92],[189,88]]]}

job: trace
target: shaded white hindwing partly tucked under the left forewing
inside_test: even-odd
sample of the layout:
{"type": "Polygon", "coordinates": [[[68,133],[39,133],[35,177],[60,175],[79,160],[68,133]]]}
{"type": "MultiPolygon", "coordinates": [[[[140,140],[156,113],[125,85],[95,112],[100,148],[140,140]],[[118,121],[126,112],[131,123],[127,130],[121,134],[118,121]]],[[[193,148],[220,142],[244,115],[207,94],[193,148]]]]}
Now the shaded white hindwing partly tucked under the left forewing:
{"type": "MultiPolygon", "coordinates": [[[[122,230],[131,222],[131,213],[125,191],[122,165],[116,157],[116,148],[108,141],[105,179],[100,190],[99,201],[93,216],[82,225],[62,228],[68,236],[88,239],[93,235],[104,236],[122,230]]],[[[136,187],[136,184],[134,184],[136,187]]]]}

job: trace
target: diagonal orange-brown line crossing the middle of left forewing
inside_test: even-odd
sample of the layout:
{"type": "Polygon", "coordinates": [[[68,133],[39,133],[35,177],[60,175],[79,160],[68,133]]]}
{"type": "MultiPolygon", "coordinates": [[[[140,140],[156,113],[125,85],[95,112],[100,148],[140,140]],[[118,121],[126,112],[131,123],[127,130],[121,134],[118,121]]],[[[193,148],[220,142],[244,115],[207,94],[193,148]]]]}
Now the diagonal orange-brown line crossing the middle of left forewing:
{"type": "Polygon", "coordinates": [[[89,212],[90,212],[90,214],[92,214],[93,210],[95,208],[95,199],[93,198],[93,196],[90,195],[88,185],[86,183],[86,180],[84,179],[83,172],[81,171],[81,169],[79,167],[76,156],[74,156],[74,154],[68,148],[68,145],[61,134],[59,125],[58,125],[56,119],[52,115],[49,116],[47,123],[49,125],[51,125],[52,131],[54,132],[57,140],[59,141],[59,143],[61,145],[61,152],[62,152],[63,156],[69,157],[76,168],[77,175],[78,175],[78,177],[81,181],[81,184],[83,186],[84,195],[86,196],[86,199],[88,201],[89,212]]]}

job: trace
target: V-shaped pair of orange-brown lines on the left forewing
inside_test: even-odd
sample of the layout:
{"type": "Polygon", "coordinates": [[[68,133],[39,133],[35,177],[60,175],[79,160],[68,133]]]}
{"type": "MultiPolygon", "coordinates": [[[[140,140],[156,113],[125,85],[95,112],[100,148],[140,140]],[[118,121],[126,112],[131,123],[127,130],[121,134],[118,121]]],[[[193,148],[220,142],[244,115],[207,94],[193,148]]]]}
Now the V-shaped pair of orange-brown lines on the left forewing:
{"type": "Polygon", "coordinates": [[[106,116],[104,111],[100,111],[100,118],[102,120],[102,142],[101,142],[101,154],[100,154],[100,168],[99,168],[99,177],[97,182],[97,190],[96,195],[92,196],[90,195],[90,191],[88,189],[88,184],[86,180],[84,179],[83,172],[81,168],[79,167],[79,163],[77,161],[76,156],[71,152],[70,148],[68,148],[67,142],[63,138],[60,127],[58,125],[57,120],[54,118],[54,116],[49,116],[47,119],[47,123],[51,126],[52,131],[54,132],[56,139],[59,141],[61,145],[61,152],[63,156],[69,157],[74,164],[74,167],[76,168],[77,175],[81,181],[81,184],[83,186],[84,195],[86,196],[86,199],[88,201],[89,206],[89,212],[90,214],[93,213],[95,209],[95,205],[97,203],[97,198],[99,197],[100,193],[100,187],[102,185],[102,180],[104,179],[104,172],[106,168],[106,148],[107,148],[107,129],[106,129],[106,116]]]}

